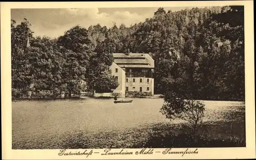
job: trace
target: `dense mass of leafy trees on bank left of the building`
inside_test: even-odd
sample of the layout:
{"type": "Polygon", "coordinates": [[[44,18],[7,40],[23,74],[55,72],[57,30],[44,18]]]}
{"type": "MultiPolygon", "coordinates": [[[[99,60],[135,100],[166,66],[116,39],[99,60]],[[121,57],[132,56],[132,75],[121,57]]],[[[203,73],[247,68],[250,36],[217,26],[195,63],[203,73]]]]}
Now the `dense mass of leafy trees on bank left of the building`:
{"type": "Polygon", "coordinates": [[[95,81],[95,77],[98,78],[95,85],[104,91],[118,87],[109,69],[115,49],[109,38],[102,42],[97,40],[95,48],[88,30],[81,26],[71,28],[57,39],[34,38],[26,19],[17,26],[12,20],[11,27],[13,93],[17,90],[26,93],[34,88],[36,92],[51,90],[56,97],[61,92],[71,97],[80,94],[82,82],[95,81]],[[26,45],[28,39],[30,45],[26,45]]]}

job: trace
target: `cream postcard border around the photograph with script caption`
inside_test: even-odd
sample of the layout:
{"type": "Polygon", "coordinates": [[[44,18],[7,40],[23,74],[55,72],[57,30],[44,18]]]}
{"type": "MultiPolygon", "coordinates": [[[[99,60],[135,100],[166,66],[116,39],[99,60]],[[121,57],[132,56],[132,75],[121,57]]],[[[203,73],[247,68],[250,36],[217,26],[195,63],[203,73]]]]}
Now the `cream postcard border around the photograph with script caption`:
{"type": "MultiPolygon", "coordinates": [[[[254,37],[253,1],[203,1],[203,2],[59,2],[59,3],[1,3],[1,86],[2,86],[2,153],[3,159],[230,159],[255,158],[255,99],[254,99],[254,37]],[[245,9],[245,114],[246,147],[244,148],[198,148],[198,154],[162,154],[166,149],[154,149],[151,155],[136,155],[141,149],[124,149],[133,155],[101,155],[104,149],[93,149],[92,155],[58,155],[57,150],[12,150],[11,117],[11,8],[118,8],[118,7],[198,7],[244,5],[245,9]]],[[[193,151],[196,148],[189,148],[193,151]]],[[[83,152],[85,149],[67,149],[67,152],[83,152]]],[[[90,149],[87,149],[90,150],[90,149]]],[[[119,152],[121,149],[111,149],[119,152]]],[[[185,151],[186,148],[173,148],[185,151]]]]}

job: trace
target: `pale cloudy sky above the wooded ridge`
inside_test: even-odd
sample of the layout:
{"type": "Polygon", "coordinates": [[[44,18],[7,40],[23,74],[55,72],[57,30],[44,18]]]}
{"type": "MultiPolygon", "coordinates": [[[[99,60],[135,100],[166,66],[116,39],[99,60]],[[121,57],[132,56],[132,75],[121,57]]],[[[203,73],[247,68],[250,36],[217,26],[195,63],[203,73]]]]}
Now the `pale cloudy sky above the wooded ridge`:
{"type": "MultiPolygon", "coordinates": [[[[123,23],[129,27],[153,17],[158,8],[11,9],[11,19],[19,24],[26,18],[32,25],[31,30],[34,36],[45,35],[56,38],[76,25],[88,28],[91,25],[100,24],[109,28],[115,21],[117,26],[123,23]]],[[[186,8],[193,7],[164,7],[166,12],[186,8]]]]}

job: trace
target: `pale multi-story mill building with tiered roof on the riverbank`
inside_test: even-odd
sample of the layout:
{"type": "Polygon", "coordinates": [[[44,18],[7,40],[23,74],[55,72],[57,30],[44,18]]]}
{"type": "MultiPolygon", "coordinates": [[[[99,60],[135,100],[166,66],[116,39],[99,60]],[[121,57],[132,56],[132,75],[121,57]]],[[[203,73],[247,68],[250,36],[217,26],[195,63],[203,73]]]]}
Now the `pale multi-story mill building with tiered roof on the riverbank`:
{"type": "Polygon", "coordinates": [[[143,92],[154,95],[154,60],[145,53],[114,53],[111,65],[112,74],[118,79],[119,86],[114,90],[125,92],[143,92]]]}

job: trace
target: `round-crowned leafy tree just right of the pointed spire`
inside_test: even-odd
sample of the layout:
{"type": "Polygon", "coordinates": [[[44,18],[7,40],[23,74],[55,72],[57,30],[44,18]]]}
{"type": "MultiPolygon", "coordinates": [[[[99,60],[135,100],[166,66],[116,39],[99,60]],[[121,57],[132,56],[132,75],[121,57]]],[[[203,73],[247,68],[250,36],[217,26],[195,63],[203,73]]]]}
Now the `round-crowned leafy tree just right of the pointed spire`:
{"type": "MultiPolygon", "coordinates": [[[[29,63],[34,88],[42,90],[61,90],[63,55],[54,39],[37,37],[31,42],[29,63]]],[[[57,96],[60,93],[56,93],[57,96]]]]}

